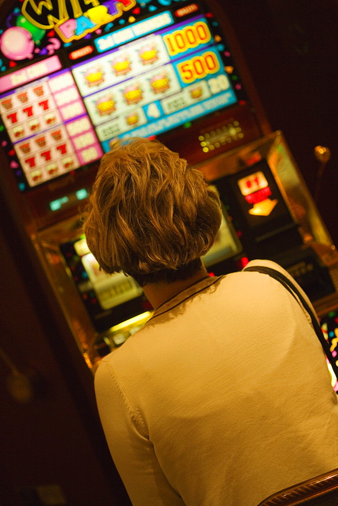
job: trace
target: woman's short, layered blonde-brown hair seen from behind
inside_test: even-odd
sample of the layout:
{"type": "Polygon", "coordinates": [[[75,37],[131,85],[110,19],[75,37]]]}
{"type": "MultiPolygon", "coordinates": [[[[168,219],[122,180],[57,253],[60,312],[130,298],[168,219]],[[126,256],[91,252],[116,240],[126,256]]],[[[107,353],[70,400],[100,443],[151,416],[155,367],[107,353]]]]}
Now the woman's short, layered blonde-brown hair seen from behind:
{"type": "Polygon", "coordinates": [[[202,173],[135,138],[103,156],[83,230],[101,269],[145,276],[144,285],[205,255],[220,224],[219,197],[202,173]]]}

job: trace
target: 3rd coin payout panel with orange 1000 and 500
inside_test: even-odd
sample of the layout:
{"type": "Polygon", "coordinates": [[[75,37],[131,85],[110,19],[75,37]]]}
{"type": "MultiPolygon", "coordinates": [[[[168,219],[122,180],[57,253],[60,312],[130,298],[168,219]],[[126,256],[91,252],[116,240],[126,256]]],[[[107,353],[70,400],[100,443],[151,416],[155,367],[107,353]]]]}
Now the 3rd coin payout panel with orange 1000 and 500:
{"type": "MultiPolygon", "coordinates": [[[[171,25],[170,12],[95,40],[97,49],[171,25]]],[[[72,74],[103,150],[117,137],[158,135],[236,102],[203,16],[75,64],[72,74]]]]}

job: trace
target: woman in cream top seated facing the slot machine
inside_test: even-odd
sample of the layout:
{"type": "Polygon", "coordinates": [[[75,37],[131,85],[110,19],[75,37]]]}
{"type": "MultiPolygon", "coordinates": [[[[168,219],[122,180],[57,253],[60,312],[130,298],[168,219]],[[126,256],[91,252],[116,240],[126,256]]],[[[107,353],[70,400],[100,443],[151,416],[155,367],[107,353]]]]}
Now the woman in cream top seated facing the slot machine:
{"type": "Polygon", "coordinates": [[[337,399],[309,315],[267,275],[208,276],[200,257],[220,221],[202,174],[157,141],[104,155],[87,242],[155,309],[95,377],[134,506],[256,506],[338,467],[337,399]]]}

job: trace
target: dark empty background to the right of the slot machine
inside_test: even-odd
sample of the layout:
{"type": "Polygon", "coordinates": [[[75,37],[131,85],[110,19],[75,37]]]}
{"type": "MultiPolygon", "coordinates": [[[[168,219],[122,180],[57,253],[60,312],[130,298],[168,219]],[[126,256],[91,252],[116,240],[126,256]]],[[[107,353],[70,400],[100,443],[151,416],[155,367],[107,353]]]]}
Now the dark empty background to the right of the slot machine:
{"type": "Polygon", "coordinates": [[[222,7],[230,20],[273,130],[281,130],[312,195],[317,145],[331,151],[318,197],[338,244],[338,3],[254,0],[222,7]]]}

